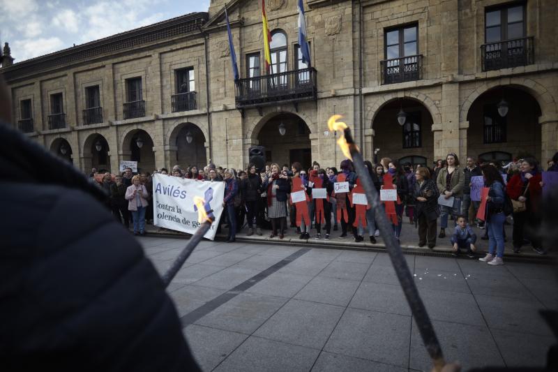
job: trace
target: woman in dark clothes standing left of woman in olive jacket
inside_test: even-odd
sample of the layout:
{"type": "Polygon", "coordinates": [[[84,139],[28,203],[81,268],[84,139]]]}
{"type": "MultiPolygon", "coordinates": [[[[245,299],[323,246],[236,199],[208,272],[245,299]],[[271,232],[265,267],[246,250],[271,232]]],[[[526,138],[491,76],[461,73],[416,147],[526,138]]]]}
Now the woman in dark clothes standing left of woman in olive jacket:
{"type": "Polygon", "coordinates": [[[414,221],[418,223],[418,246],[423,247],[428,242],[428,248],[434,248],[439,216],[438,188],[436,182],[430,179],[428,168],[416,168],[414,174],[414,221]]]}

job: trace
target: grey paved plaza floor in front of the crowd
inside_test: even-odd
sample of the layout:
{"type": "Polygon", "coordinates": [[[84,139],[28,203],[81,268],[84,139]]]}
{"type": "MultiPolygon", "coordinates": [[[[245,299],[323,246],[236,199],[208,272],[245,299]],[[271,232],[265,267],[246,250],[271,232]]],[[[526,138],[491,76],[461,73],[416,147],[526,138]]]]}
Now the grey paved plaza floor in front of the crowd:
{"type": "MultiPolygon", "coordinates": [[[[160,273],[186,239],[141,237],[160,273]]],[[[446,360],[543,366],[556,267],[406,255],[446,360]]],[[[167,289],[204,371],[430,371],[386,253],[202,241],[167,289]]]]}

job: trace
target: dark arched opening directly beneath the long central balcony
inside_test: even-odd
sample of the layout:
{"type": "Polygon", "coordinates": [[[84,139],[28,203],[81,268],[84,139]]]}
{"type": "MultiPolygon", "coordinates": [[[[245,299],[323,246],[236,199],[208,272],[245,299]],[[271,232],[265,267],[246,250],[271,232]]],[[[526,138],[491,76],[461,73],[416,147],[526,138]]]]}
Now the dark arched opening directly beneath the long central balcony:
{"type": "Polygon", "coordinates": [[[257,134],[257,141],[265,147],[266,163],[291,165],[298,161],[304,169],[312,165],[310,128],[296,114],[281,112],[271,117],[257,134]]]}

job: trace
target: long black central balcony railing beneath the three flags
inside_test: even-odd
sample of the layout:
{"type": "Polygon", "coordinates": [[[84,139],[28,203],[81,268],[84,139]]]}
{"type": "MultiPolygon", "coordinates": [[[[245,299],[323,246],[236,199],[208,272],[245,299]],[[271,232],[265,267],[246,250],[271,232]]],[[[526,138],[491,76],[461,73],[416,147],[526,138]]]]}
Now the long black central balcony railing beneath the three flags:
{"type": "Polygon", "coordinates": [[[316,87],[316,69],[313,67],[248,77],[236,82],[236,107],[315,100],[316,87]]]}

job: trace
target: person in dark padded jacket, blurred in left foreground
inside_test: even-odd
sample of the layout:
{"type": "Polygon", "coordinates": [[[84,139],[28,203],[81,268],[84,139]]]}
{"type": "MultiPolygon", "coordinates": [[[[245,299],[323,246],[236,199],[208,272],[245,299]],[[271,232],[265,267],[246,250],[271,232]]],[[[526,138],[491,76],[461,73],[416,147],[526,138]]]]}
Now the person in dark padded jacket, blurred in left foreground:
{"type": "Polygon", "coordinates": [[[0,138],[1,370],[199,371],[163,281],[101,189],[7,124],[0,138]]]}

